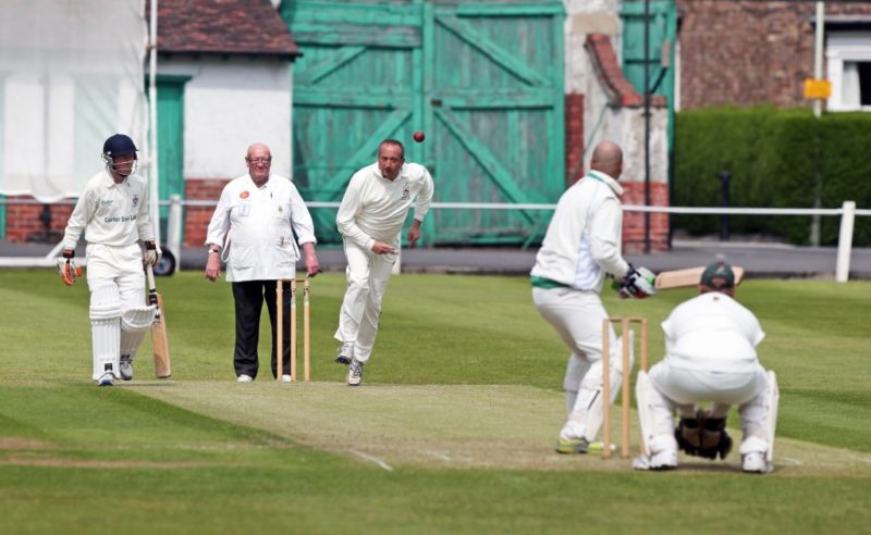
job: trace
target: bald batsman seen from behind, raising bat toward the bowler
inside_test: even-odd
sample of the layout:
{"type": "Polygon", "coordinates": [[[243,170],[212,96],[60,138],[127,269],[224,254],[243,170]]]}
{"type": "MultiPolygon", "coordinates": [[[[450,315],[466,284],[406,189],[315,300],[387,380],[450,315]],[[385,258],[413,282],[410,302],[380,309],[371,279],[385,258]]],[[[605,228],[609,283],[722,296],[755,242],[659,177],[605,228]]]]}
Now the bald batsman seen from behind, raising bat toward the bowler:
{"type": "MultiPolygon", "coordinates": [[[[599,144],[590,169],[560,198],[531,272],[532,302],[572,351],[563,382],[568,419],[556,443],[559,453],[586,453],[602,425],[602,320],[608,312],[599,294],[605,274],[619,282],[621,297],[655,294],[653,274],[636,271],[621,256],[623,151],[611,141],[599,144]]],[[[619,348],[613,328],[610,337],[611,347],[619,348]]],[[[623,376],[616,350],[610,373],[613,403],[623,376]]]]}

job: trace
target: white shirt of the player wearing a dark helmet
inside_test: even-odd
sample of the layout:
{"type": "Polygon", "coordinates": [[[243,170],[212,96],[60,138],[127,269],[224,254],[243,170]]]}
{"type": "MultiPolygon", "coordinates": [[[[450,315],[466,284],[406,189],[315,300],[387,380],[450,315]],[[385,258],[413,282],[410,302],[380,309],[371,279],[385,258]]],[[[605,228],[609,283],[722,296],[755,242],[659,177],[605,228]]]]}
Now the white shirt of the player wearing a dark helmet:
{"type": "Polygon", "coordinates": [[[88,244],[112,247],[154,240],[145,179],[130,175],[121,184],[115,184],[107,170],[94,175],[66,223],[63,248],[75,249],[83,232],[88,244]]]}

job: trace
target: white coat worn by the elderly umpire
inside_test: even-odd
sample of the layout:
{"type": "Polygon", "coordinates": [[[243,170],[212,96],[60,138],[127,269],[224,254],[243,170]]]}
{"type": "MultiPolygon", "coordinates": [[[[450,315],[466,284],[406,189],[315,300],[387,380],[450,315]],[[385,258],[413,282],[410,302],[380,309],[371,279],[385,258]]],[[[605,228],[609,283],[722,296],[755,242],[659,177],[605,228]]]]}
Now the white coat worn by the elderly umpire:
{"type": "Polygon", "coordinates": [[[290,179],[270,174],[266,184],[257,187],[244,174],[224,186],[209,223],[206,246],[223,248],[229,282],[294,277],[299,259],[297,241],[300,246],[316,242],[315,225],[290,179]]]}

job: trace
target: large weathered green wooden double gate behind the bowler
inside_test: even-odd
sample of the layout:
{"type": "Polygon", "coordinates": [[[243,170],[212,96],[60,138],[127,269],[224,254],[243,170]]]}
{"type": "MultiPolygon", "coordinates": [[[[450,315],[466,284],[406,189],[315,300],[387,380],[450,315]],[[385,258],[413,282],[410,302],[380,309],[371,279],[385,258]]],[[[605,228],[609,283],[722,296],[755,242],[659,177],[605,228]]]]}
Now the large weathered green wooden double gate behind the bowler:
{"type": "MultiPolygon", "coordinates": [[[[294,64],[294,179],[338,201],[396,138],[426,164],[441,202],[553,202],[564,185],[563,4],[296,0],[282,15],[294,64]],[[424,144],[412,133],[427,133],[424,144]]],[[[335,211],[314,211],[338,241],[335,211]]],[[[436,210],[425,239],[523,244],[549,213],[436,210]]]]}

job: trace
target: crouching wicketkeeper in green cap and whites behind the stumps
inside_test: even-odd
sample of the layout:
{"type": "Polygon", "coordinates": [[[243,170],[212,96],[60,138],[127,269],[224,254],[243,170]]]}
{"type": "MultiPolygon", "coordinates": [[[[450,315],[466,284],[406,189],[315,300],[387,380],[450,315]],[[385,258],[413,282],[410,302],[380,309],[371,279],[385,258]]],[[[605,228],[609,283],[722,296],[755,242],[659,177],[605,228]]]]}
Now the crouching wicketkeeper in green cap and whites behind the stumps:
{"type": "Polygon", "coordinates": [[[677,468],[677,450],[708,459],[732,449],[726,434],[729,407],[738,406],[744,439],[741,469],[772,470],[777,383],[759,364],[756,346],[765,334],[759,321],[735,301],[735,275],[725,262],[710,264],[700,295],[675,308],[662,323],[665,359],[639,372],[636,384],[645,453],[636,470],[677,468]],[[713,401],[711,409],[699,402],[713,401]],[[680,416],[674,427],[674,414],[680,416]]]}

